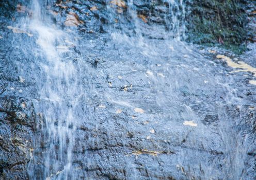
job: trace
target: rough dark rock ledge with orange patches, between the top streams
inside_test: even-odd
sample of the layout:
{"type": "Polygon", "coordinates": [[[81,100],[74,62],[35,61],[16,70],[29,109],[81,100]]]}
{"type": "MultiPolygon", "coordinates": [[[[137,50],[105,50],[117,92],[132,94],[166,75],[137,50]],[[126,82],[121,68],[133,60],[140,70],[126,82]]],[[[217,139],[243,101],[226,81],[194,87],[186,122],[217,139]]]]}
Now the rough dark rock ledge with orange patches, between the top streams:
{"type": "Polygon", "coordinates": [[[57,23],[63,24],[66,14],[75,13],[79,20],[85,22],[79,26],[79,31],[87,33],[104,33],[118,29],[130,35],[141,33],[143,36],[163,39],[163,32],[173,28],[168,22],[171,16],[166,15],[169,12],[168,3],[136,1],[132,7],[136,14],[133,14],[126,1],[122,1],[122,6],[113,2],[115,1],[57,1],[54,17],[57,23]],[[109,29],[109,25],[113,28],[109,29]],[[140,32],[136,31],[137,28],[140,28],[140,32]]]}

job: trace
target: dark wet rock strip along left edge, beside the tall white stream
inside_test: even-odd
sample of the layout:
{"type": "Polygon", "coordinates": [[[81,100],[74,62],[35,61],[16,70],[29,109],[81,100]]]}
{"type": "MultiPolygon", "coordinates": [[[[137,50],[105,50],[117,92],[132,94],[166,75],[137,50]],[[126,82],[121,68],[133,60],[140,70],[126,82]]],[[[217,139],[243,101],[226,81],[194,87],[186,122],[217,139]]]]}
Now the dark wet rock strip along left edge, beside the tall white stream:
{"type": "MultiPolygon", "coordinates": [[[[3,35],[0,43],[0,179],[27,179],[27,163],[37,129],[31,98],[33,80],[28,78],[29,71],[32,71],[26,66],[29,62],[24,64],[24,57],[31,57],[23,53],[19,46],[9,43],[19,41],[21,36],[25,39],[26,35],[18,34],[15,38],[6,33],[6,29],[2,26],[0,32],[3,35]]],[[[24,41],[21,39],[20,47],[24,41]]]]}

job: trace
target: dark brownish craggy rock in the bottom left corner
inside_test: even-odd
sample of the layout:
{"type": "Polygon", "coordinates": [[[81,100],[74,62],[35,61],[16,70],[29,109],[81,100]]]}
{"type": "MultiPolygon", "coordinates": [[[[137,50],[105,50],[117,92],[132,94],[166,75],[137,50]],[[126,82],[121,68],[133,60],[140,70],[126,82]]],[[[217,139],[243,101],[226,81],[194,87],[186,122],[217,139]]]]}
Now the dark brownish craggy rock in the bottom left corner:
{"type": "Polygon", "coordinates": [[[28,113],[33,107],[25,99],[10,96],[1,98],[1,106],[1,179],[26,179],[35,136],[35,116],[28,113]],[[25,102],[26,107],[19,107],[25,102]]]}

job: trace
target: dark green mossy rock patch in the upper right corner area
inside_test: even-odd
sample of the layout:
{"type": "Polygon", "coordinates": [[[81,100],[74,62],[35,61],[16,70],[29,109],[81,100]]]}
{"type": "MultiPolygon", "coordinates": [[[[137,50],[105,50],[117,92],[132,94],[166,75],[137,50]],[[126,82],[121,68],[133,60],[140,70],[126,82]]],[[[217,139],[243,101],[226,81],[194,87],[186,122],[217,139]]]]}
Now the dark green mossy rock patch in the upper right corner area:
{"type": "Polygon", "coordinates": [[[241,53],[247,40],[246,1],[194,1],[188,15],[188,41],[219,45],[241,53]],[[223,41],[223,42],[222,42],[223,41]]]}

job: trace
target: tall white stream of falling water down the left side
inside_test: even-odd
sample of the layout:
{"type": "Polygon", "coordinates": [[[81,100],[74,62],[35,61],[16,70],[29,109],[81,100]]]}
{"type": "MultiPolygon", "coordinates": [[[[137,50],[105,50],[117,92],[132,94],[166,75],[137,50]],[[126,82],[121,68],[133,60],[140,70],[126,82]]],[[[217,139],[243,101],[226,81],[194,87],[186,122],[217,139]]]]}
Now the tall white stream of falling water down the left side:
{"type": "MultiPolygon", "coordinates": [[[[41,160],[33,157],[29,164],[31,179],[72,178],[72,149],[78,123],[77,105],[81,96],[78,79],[79,63],[74,64],[70,36],[55,27],[44,9],[49,5],[33,0],[33,15],[28,17],[28,29],[36,34],[35,56],[41,66],[37,77],[39,99],[36,112],[43,120],[40,137],[36,140],[41,160]],[[75,66],[76,65],[76,66],[75,66]]],[[[77,57],[76,61],[77,60],[77,57]]]]}

